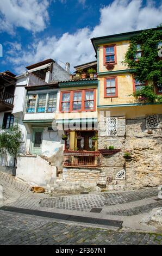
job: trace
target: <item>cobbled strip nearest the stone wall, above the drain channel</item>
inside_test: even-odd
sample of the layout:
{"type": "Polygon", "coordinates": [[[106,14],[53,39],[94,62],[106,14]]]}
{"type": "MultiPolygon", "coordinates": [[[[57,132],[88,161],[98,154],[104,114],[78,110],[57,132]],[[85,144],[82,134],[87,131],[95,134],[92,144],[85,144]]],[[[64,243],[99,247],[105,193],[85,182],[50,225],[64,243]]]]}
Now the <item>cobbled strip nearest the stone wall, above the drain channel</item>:
{"type": "Polygon", "coordinates": [[[90,211],[91,208],[103,208],[110,205],[125,204],[146,198],[149,199],[156,196],[158,196],[158,189],[153,188],[141,191],[126,191],[115,193],[84,194],[77,196],[43,198],[41,199],[40,206],[66,210],[90,211]]]}

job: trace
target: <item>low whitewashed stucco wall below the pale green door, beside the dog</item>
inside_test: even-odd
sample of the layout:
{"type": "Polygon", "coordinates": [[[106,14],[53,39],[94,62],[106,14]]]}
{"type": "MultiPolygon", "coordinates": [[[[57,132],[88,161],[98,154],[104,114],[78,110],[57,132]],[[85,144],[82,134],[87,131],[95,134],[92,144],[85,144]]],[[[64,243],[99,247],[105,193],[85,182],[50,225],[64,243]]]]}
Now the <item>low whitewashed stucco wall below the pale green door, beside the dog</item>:
{"type": "Polygon", "coordinates": [[[46,186],[54,184],[56,180],[56,167],[40,156],[18,156],[16,176],[32,184],[46,186]]]}

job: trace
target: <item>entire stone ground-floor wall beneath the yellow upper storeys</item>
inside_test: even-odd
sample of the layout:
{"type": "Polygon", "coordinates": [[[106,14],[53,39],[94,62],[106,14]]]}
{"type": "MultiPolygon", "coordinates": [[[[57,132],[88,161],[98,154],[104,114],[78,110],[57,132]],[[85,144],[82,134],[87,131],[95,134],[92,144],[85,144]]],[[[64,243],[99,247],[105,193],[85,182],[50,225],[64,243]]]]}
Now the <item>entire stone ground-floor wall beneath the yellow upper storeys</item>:
{"type": "Polygon", "coordinates": [[[105,173],[108,190],[139,189],[162,184],[162,115],[158,129],[146,129],[146,118],[117,118],[117,135],[108,136],[106,118],[99,124],[98,149],[113,145],[119,153],[101,156],[101,169],[105,173]],[[123,158],[130,150],[132,161],[123,158]],[[126,179],[115,179],[117,172],[126,170],[126,179]]]}

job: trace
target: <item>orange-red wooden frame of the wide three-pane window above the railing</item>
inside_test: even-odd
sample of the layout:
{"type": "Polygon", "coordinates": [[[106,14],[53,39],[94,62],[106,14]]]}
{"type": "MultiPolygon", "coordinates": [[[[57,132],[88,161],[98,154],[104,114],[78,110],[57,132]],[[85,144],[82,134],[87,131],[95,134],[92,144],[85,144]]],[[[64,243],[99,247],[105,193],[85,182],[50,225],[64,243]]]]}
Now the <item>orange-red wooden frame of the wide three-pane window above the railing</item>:
{"type": "Polygon", "coordinates": [[[60,104],[59,104],[59,113],[74,113],[74,112],[94,112],[96,110],[96,89],[82,89],[82,90],[71,90],[71,91],[64,91],[60,93],[60,104]],[[94,108],[93,109],[85,109],[85,92],[92,91],[94,92],[94,108]],[[74,93],[82,92],[82,106],[81,109],[73,110],[73,95],[74,93]],[[68,111],[62,111],[62,99],[64,93],[70,93],[70,108],[68,111]]]}

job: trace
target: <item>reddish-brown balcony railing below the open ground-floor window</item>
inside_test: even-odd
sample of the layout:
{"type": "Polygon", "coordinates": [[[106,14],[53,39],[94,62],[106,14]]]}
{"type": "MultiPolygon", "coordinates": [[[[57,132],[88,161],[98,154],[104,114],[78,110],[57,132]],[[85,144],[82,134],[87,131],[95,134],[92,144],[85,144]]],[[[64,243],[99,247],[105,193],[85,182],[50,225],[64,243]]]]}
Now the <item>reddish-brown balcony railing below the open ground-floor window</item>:
{"type": "Polygon", "coordinates": [[[64,166],[100,166],[99,151],[64,150],[64,166]]]}

